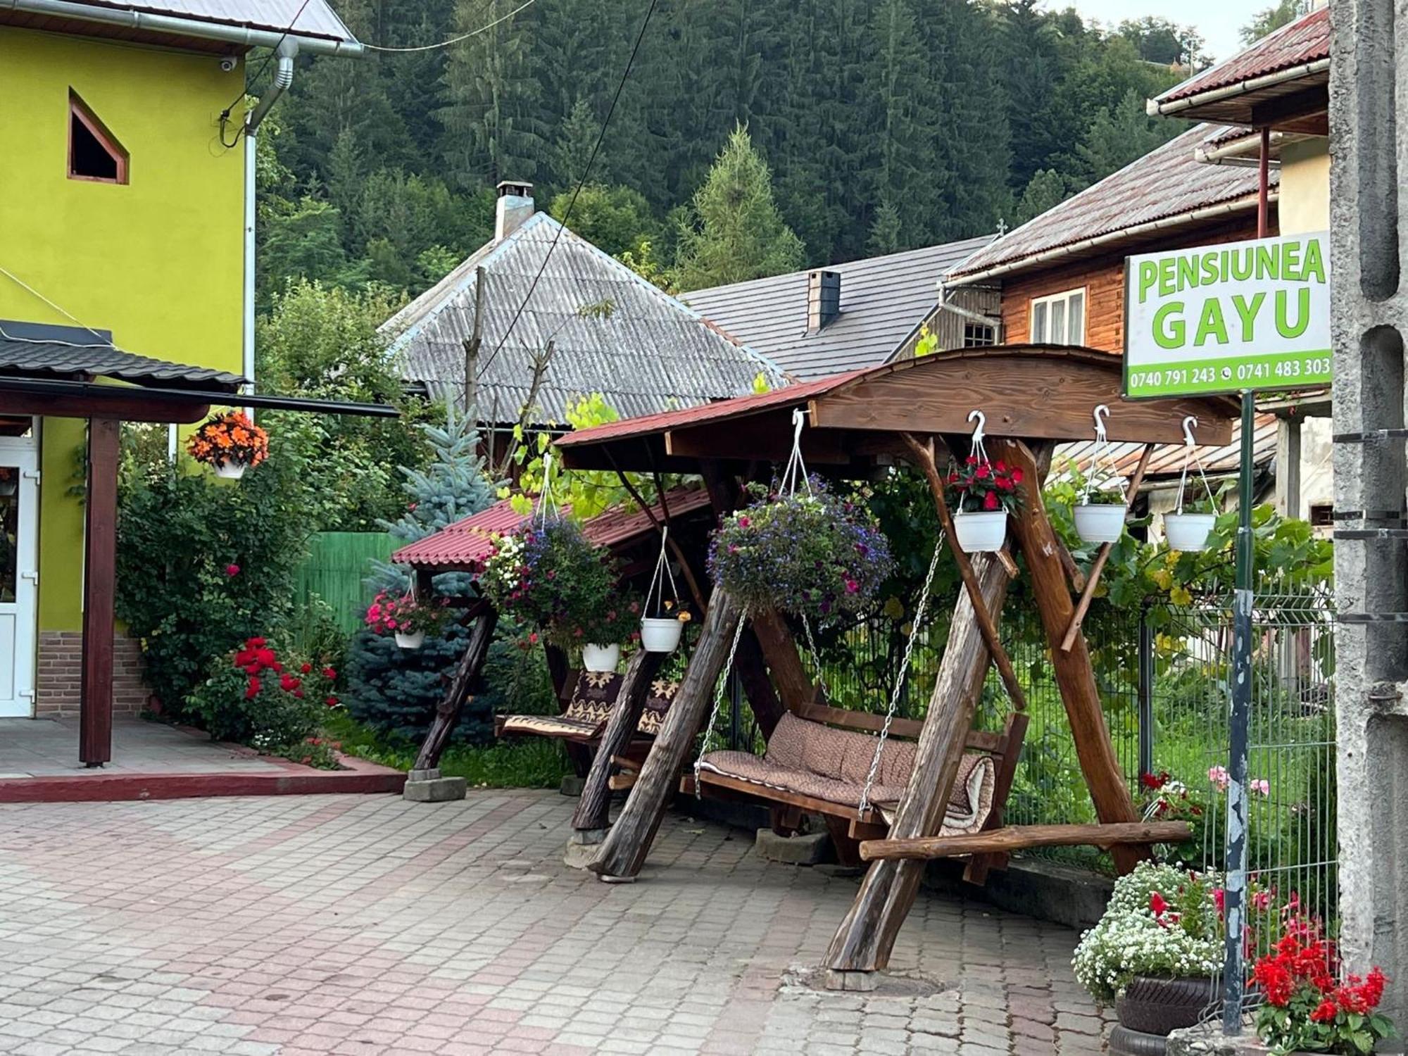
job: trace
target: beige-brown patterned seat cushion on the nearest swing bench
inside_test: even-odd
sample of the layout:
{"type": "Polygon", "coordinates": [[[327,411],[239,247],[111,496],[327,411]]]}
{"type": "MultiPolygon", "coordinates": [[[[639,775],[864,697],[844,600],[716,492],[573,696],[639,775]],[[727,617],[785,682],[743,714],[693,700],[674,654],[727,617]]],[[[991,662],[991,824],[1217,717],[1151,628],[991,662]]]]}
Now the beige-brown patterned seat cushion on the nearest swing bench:
{"type": "MultiPolygon", "coordinates": [[[[880,752],[870,803],[895,804],[914,769],[915,745],[886,741],[880,752]]],[[[783,715],[762,758],[749,752],[710,752],[700,769],[758,784],[762,788],[808,796],[856,810],[865,791],[876,738],[848,729],[834,729],[821,722],[783,715]]],[[[993,810],[993,786],[997,767],[991,756],[966,753],[959,763],[943,817],[942,835],[977,832],[993,810]]]]}

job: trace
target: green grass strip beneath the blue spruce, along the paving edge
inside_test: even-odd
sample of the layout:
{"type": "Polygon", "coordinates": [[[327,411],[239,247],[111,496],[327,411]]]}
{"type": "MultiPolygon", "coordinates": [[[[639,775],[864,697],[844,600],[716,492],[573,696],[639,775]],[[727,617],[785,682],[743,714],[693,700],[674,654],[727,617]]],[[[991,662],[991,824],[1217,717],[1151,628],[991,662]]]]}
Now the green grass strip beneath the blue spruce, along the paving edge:
{"type": "MultiPolygon", "coordinates": [[[[332,712],[324,729],[327,736],[341,742],[348,755],[397,770],[410,770],[415,765],[420,745],[376,734],[345,711],[332,712]]],[[[572,772],[562,745],[548,738],[451,745],[441,756],[439,769],[446,777],[463,777],[476,788],[556,788],[572,772]]]]}

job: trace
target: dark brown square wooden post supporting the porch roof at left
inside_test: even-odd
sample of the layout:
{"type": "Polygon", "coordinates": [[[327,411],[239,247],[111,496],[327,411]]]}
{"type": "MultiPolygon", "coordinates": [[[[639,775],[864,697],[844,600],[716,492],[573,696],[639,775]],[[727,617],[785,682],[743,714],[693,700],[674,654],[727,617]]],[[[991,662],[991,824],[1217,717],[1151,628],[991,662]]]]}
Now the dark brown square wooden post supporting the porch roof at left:
{"type": "Polygon", "coordinates": [[[79,698],[79,762],[113,759],[113,620],[117,589],[117,418],[89,422],[87,496],[83,531],[83,673],[79,698]]]}

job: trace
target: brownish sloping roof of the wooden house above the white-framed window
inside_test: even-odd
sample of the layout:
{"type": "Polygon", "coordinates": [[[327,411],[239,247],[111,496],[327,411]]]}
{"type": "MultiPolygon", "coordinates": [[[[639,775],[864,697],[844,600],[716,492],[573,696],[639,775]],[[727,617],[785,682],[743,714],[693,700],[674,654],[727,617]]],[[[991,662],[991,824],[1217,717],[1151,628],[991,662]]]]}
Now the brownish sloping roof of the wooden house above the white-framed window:
{"type": "MultiPolygon", "coordinates": [[[[949,272],[948,279],[963,282],[964,276],[998,265],[1017,265],[1050,249],[1118,234],[1208,206],[1239,203],[1247,208],[1255,207],[1256,169],[1204,165],[1193,156],[1194,148],[1214,134],[1214,125],[1190,128],[979,249],[949,272]]],[[[1273,186],[1278,180],[1280,173],[1273,170],[1273,186]]]]}

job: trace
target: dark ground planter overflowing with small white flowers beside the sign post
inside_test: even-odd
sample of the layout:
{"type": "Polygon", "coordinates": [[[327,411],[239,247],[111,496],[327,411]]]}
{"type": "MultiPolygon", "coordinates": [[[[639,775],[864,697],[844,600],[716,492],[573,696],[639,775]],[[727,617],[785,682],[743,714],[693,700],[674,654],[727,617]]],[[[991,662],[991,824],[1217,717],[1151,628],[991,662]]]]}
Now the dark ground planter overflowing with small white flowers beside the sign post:
{"type": "Polygon", "coordinates": [[[1215,997],[1221,904],[1217,874],[1138,865],[1115,881],[1100,922],[1081,936],[1076,981],[1098,1004],[1114,1004],[1121,1025],[1136,1033],[1193,1026],[1215,997]]]}

